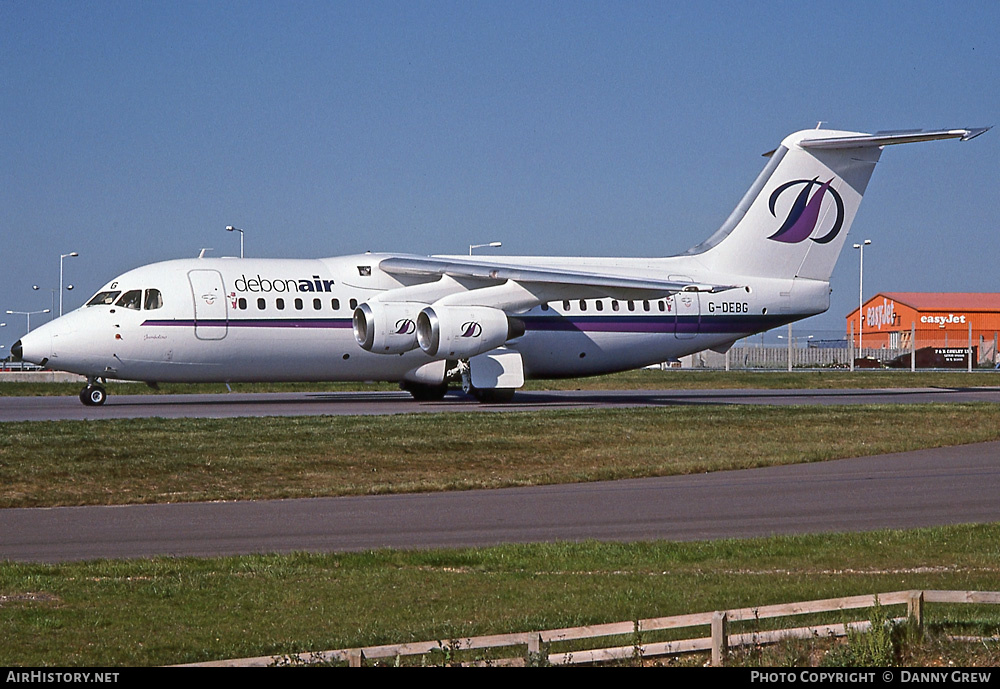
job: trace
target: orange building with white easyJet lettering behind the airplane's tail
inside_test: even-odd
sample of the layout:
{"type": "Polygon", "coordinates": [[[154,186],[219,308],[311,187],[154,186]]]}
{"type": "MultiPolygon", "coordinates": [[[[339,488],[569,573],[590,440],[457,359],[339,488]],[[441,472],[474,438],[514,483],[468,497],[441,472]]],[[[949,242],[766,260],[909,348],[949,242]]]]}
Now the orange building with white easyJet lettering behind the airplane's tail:
{"type": "Polygon", "coordinates": [[[1000,332],[1000,294],[983,292],[879,292],[847,315],[847,339],[864,349],[972,346],[980,360],[996,358],[1000,332]],[[853,326],[853,329],[852,329],[853,326]]]}

